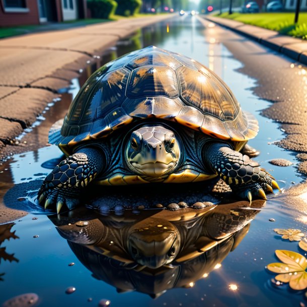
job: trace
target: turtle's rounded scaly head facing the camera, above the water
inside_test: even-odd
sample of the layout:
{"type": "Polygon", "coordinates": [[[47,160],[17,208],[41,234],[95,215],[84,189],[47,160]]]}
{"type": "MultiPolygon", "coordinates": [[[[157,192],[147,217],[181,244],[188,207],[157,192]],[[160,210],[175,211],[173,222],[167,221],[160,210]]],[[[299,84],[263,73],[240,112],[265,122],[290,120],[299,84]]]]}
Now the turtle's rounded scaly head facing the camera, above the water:
{"type": "Polygon", "coordinates": [[[128,138],[126,161],[137,174],[160,177],[171,173],[180,158],[180,144],[175,133],[163,125],[144,125],[128,138]]]}

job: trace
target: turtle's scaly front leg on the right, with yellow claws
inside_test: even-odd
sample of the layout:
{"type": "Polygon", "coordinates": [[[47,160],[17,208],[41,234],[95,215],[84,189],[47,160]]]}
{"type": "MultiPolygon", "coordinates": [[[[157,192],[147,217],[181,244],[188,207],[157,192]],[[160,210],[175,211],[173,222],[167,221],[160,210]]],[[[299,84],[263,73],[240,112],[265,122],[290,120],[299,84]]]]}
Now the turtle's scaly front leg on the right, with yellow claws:
{"type": "Polygon", "coordinates": [[[241,198],[252,201],[253,196],[266,199],[265,192],[279,189],[277,182],[260,165],[228,144],[210,143],[204,148],[204,159],[241,198]]]}

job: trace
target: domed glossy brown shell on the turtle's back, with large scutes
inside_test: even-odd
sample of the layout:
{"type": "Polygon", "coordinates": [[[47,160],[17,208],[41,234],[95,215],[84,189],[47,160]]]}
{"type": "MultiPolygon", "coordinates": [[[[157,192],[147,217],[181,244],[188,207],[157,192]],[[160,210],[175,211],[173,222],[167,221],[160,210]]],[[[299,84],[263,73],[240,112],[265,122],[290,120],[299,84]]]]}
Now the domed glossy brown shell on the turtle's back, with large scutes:
{"type": "Polygon", "coordinates": [[[258,132],[257,120],[241,110],[216,74],[191,58],[149,46],[94,72],[49,142],[73,147],[152,117],[234,142],[246,142],[258,132]]]}

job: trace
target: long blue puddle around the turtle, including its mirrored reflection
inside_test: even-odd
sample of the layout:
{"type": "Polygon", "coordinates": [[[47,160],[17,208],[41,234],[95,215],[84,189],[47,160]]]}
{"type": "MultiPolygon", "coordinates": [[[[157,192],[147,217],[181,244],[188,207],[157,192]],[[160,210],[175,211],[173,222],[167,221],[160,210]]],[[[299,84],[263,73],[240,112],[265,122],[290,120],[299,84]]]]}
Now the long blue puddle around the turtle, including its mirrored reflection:
{"type": "MultiPolygon", "coordinates": [[[[275,249],[301,252],[296,242],[281,240],[273,228],[306,232],[307,218],[301,209],[304,196],[297,202],[295,193],[287,198],[282,191],[266,202],[253,201],[251,207],[246,201],[234,201],[199,211],[156,209],[101,215],[99,207],[90,208],[93,195],[89,193],[87,207],[59,216],[41,214],[40,208],[35,210],[29,205],[31,199],[17,200],[26,196],[25,191],[40,186],[50,172],[50,159],[61,158],[56,146],[44,146],[46,136],[53,122],[64,116],[71,97],[88,76],[102,63],[149,45],[183,53],[217,73],[242,108],[259,121],[260,132],[249,142],[261,152],[255,160],[283,188],[302,181],[293,152],[274,145],[283,132],[275,122],[260,115],[270,103],[253,94],[256,80],[239,72],[240,60],[210,30],[196,18],[174,18],[121,40],[73,81],[71,92],[46,110],[40,125],[20,138],[21,142],[31,142],[35,150],[14,155],[0,172],[5,205],[27,211],[14,222],[0,225],[0,302],[23,293],[36,293],[37,305],[41,306],[97,305],[101,299],[110,300],[112,306],[297,306],[304,301],[302,291],[291,291],[286,284],[274,285],[274,275],[265,270],[267,264],[276,262],[275,249]],[[275,158],[290,160],[293,165],[281,168],[268,163],[275,158]],[[270,221],[272,218],[274,221],[270,221]],[[161,250],[168,246],[167,250],[144,250],[157,227],[157,246],[161,250]],[[75,291],[66,294],[68,287],[75,287],[75,291]]],[[[188,194],[188,188],[184,194],[181,187],[175,192],[185,201],[197,195],[192,190],[188,194]]],[[[304,191],[300,195],[305,195],[304,191]]],[[[133,197],[142,199],[144,193],[136,191],[133,197]]],[[[127,195],[125,191],[118,198],[124,201],[127,195]]],[[[163,202],[165,196],[161,192],[156,197],[163,202]]]]}

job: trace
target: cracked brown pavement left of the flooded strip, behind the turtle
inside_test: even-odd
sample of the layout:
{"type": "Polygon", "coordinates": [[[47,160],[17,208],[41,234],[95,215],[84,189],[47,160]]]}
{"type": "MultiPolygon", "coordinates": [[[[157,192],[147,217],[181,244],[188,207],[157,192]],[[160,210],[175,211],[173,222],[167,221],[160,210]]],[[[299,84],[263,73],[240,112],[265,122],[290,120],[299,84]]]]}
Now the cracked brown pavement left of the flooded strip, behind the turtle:
{"type": "Polygon", "coordinates": [[[149,16],[0,40],[0,148],[41,114],[95,56],[137,29],[172,18],[149,16]]]}

